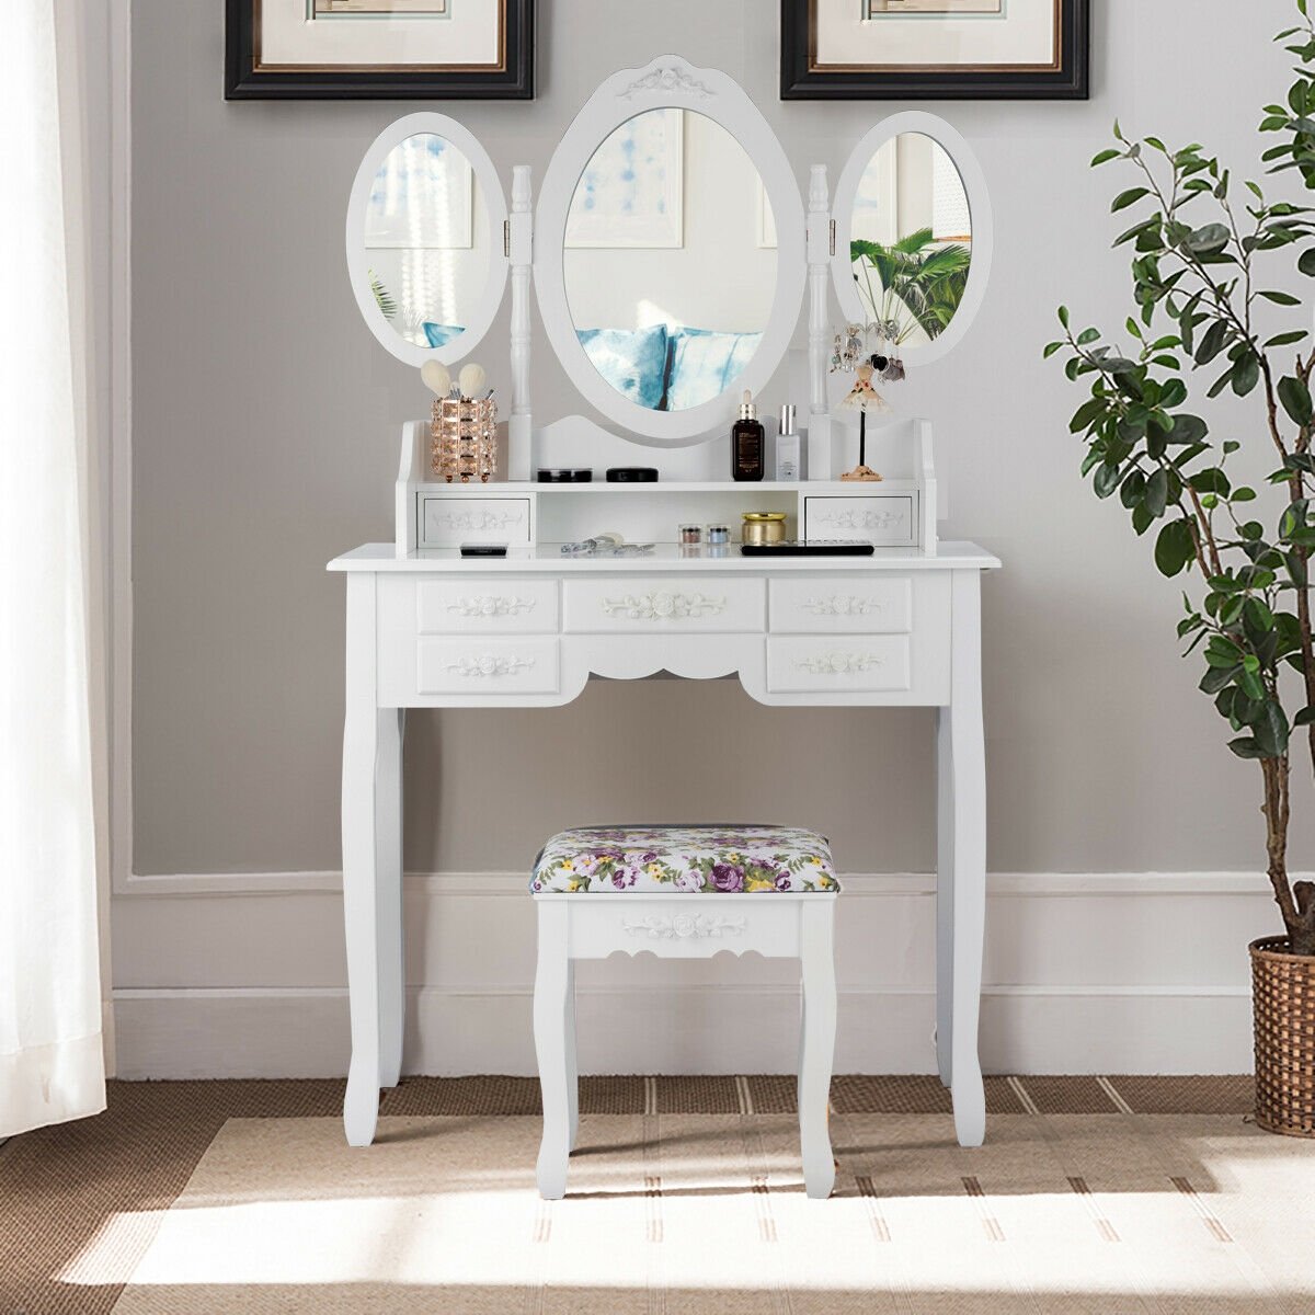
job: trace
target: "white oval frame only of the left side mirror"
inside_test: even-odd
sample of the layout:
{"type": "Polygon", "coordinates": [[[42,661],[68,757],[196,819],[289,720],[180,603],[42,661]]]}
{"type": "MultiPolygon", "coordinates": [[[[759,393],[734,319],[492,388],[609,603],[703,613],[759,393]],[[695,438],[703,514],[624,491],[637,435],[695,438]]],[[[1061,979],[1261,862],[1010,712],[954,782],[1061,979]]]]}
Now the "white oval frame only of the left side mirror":
{"type": "Polygon", "coordinates": [[[356,170],[356,179],[351,184],[351,200],[347,203],[347,277],[351,283],[356,306],[362,318],[370,326],[370,331],[379,339],[380,345],[398,360],[417,368],[426,360],[441,360],[443,364],[454,364],[468,356],[479,347],[484,335],[493,323],[498,309],[502,305],[502,293],[506,288],[506,275],[510,262],[508,260],[506,246],[506,197],[502,184],[498,180],[493,160],[479,138],[468,129],[463,128],[455,118],[447,114],[438,114],[433,110],[421,110],[418,114],[405,114],[402,118],[389,124],[371,143],[366,151],[360,167],[356,170]],[[366,271],[358,268],[362,251],[362,235],[364,233],[366,206],[370,204],[370,193],[375,184],[375,175],[379,172],[389,151],[401,145],[408,137],[421,133],[431,133],[442,137],[455,146],[471,163],[475,178],[484,192],[484,206],[489,221],[489,267],[484,279],[484,288],[480,292],[475,313],[463,316],[467,321],[466,333],[444,343],[442,347],[419,347],[406,342],[401,334],[384,318],[373,293],[370,291],[370,280],[366,271]]]}

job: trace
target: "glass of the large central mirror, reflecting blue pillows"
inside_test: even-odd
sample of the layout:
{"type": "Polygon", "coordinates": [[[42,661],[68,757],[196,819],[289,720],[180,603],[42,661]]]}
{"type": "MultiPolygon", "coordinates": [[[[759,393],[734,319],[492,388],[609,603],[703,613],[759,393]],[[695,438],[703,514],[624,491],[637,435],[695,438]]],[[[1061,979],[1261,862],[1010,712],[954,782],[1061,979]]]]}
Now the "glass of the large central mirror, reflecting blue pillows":
{"type": "Polygon", "coordinates": [[[567,218],[567,301],[623,397],[677,412],[735,387],[776,295],[764,201],[744,149],[693,110],[646,110],[594,151],[567,218]]]}

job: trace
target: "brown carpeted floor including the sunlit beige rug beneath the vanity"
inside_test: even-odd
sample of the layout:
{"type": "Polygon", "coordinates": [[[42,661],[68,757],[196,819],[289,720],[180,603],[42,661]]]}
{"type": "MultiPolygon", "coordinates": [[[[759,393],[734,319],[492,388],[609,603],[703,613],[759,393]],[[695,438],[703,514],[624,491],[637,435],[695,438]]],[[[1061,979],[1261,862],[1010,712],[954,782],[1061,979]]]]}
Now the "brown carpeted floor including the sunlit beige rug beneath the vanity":
{"type": "Polygon", "coordinates": [[[790,1077],[586,1078],[568,1197],[538,1089],[413,1078],[350,1149],[341,1082],[113,1084],[0,1148],[4,1315],[1315,1310],[1315,1144],[1244,1078],[838,1077],[830,1202],[790,1077]]]}

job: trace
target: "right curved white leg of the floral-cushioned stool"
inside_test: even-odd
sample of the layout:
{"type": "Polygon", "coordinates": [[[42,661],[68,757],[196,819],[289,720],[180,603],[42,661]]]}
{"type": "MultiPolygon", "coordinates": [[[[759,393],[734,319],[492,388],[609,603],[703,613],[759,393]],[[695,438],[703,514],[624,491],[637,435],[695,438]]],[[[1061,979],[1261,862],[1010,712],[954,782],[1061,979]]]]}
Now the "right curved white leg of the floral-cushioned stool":
{"type": "Polygon", "coordinates": [[[835,1186],[835,1160],[827,1126],[831,1063],[835,1056],[835,963],[832,928],[835,902],[805,901],[800,910],[803,980],[802,1044],[800,1047],[800,1148],[803,1186],[825,1201],[835,1186]]]}

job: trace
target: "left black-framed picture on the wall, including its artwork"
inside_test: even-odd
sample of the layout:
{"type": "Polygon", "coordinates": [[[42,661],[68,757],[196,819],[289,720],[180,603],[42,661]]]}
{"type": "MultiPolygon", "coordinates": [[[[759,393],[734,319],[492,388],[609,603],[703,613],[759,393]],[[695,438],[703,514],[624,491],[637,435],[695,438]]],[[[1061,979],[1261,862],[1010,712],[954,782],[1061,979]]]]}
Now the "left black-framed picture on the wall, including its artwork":
{"type": "Polygon", "coordinates": [[[535,0],[226,3],[226,100],[534,99],[535,0]]]}

